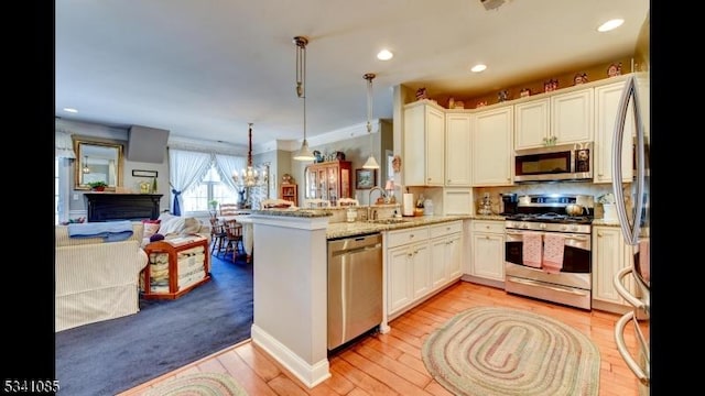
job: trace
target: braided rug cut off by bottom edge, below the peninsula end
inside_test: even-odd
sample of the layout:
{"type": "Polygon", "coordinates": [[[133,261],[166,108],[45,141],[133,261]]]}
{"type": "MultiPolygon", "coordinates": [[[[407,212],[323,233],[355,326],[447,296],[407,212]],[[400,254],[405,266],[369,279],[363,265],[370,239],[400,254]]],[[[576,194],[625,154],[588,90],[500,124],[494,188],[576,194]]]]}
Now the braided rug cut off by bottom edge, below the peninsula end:
{"type": "Polygon", "coordinates": [[[145,392],[143,396],[246,396],[248,393],[227,374],[188,374],[145,392]]]}

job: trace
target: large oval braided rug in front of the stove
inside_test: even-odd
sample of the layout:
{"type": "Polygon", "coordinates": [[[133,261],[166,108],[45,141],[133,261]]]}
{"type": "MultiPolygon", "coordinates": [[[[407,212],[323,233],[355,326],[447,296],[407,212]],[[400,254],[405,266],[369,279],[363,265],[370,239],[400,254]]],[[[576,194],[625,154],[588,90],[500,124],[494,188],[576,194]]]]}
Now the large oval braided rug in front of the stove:
{"type": "Polygon", "coordinates": [[[599,350],[553,318],[499,307],[467,309],[424,341],[423,362],[455,395],[595,396],[599,350]]]}

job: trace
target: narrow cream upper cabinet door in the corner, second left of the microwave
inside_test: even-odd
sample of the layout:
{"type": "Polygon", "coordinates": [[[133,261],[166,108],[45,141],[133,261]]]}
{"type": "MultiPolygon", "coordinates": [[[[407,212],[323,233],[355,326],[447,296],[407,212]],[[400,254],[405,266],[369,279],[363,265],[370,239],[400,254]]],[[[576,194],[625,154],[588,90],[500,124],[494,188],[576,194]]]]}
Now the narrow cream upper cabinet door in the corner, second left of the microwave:
{"type": "Polygon", "coordinates": [[[445,185],[469,187],[470,174],[470,113],[445,114],[445,185]]]}

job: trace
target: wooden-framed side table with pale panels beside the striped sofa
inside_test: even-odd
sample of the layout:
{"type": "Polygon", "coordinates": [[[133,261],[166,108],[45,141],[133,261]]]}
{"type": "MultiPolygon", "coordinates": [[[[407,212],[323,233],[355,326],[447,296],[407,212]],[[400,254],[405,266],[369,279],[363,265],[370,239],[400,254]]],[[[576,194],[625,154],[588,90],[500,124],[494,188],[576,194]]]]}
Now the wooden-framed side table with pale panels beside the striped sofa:
{"type": "Polygon", "coordinates": [[[208,240],[182,237],[144,246],[149,256],[140,274],[140,288],[148,299],[176,299],[210,280],[208,240]]]}

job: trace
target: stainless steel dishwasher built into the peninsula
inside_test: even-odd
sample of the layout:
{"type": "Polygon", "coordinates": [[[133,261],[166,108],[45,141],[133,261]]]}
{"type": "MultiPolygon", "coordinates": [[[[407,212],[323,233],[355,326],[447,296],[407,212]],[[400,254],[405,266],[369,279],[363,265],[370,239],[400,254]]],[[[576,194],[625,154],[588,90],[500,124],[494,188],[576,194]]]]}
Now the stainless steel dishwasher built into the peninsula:
{"type": "Polygon", "coordinates": [[[382,321],[382,235],[328,241],[328,350],[382,321]]]}

